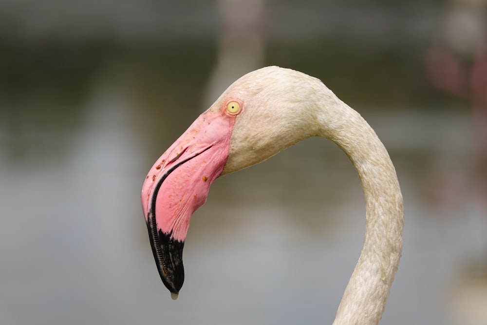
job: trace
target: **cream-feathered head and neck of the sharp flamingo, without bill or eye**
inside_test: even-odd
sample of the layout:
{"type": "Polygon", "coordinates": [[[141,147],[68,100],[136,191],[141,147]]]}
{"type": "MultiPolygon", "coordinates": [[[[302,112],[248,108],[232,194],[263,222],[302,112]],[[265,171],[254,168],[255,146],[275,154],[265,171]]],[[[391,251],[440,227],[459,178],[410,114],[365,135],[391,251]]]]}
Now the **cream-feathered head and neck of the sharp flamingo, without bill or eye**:
{"type": "Polygon", "coordinates": [[[229,96],[242,96],[246,108],[235,120],[222,175],[316,135],[334,141],[351,159],[365,194],[366,229],[334,324],[377,324],[401,257],[404,224],[399,183],[384,145],[356,111],[319,79],[300,72],[262,68],[222,95],[229,96]]]}

